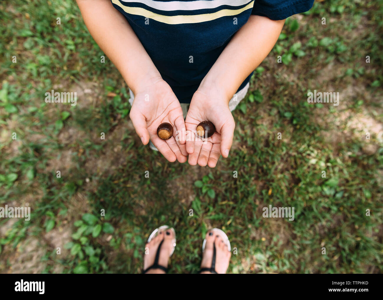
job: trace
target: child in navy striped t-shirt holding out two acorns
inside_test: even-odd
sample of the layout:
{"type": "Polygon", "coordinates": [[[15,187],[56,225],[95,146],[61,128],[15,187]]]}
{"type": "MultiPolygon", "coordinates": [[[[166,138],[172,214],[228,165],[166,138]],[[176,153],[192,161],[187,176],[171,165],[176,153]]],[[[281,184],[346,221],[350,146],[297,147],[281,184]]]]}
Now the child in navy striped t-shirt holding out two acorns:
{"type": "Polygon", "coordinates": [[[77,0],[90,34],[134,94],[129,116],[142,143],[150,139],[171,162],[209,167],[229,155],[231,109],[246,95],[252,71],[285,19],[313,2],[77,0]],[[190,103],[185,120],[180,103],[190,103]],[[205,143],[188,139],[206,120],[217,132],[205,143]],[[166,141],[157,136],[163,122],[175,128],[166,141]]]}

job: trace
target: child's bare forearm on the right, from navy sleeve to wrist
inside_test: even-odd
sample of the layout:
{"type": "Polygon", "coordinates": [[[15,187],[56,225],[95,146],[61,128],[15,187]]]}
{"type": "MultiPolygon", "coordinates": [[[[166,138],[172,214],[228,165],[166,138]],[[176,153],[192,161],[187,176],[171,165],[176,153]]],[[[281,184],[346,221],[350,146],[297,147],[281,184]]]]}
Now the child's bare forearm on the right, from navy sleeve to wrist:
{"type": "Polygon", "coordinates": [[[198,89],[214,89],[229,101],[246,77],[265,59],[276,43],[285,20],[252,15],[234,34],[198,89]]]}

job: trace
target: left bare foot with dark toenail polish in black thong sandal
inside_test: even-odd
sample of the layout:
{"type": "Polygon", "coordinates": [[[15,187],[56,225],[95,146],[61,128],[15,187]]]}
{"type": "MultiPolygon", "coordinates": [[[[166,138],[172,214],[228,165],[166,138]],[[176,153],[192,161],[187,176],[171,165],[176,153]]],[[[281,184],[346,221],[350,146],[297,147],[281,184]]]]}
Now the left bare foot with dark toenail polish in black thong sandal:
{"type": "MultiPolygon", "coordinates": [[[[158,264],[167,268],[169,256],[173,250],[173,239],[174,234],[172,230],[160,230],[159,233],[157,233],[157,236],[152,238],[152,240],[145,245],[144,270],[154,264],[155,254],[157,253],[158,246],[162,240],[164,240],[164,242],[161,245],[158,264]]],[[[165,271],[161,269],[150,269],[146,274],[165,274],[165,271]]]]}

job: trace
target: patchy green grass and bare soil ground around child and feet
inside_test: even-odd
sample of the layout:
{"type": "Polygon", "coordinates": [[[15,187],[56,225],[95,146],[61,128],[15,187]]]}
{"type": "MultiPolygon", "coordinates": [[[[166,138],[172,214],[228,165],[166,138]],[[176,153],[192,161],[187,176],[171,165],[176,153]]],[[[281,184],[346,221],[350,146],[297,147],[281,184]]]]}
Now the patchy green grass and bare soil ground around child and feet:
{"type": "Polygon", "coordinates": [[[286,20],[215,169],[141,145],[128,87],[74,2],[0,8],[0,204],[32,212],[0,220],[2,272],[140,272],[164,224],[177,233],[174,273],[198,271],[213,227],[237,249],[228,272],[382,272],[381,2],[315,2],[286,20]],[[77,90],[78,105],[45,103],[51,89],[77,90]],[[340,105],[307,103],[314,89],[339,91],[340,105]],[[268,205],[294,207],[295,220],[263,218],[268,205]]]}

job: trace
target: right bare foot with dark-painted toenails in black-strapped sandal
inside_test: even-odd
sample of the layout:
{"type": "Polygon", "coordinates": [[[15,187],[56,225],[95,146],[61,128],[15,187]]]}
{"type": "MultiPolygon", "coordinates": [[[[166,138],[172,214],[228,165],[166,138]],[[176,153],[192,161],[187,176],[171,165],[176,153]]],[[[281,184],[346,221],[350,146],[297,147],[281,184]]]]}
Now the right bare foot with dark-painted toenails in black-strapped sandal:
{"type": "MultiPolygon", "coordinates": [[[[224,238],[217,231],[208,231],[206,233],[205,251],[202,254],[202,268],[210,268],[213,261],[213,243],[216,246],[216,263],[215,270],[218,274],[225,274],[229,267],[231,252],[228,245],[224,242],[224,238]]],[[[203,271],[201,274],[212,274],[209,271],[203,271]]]]}

